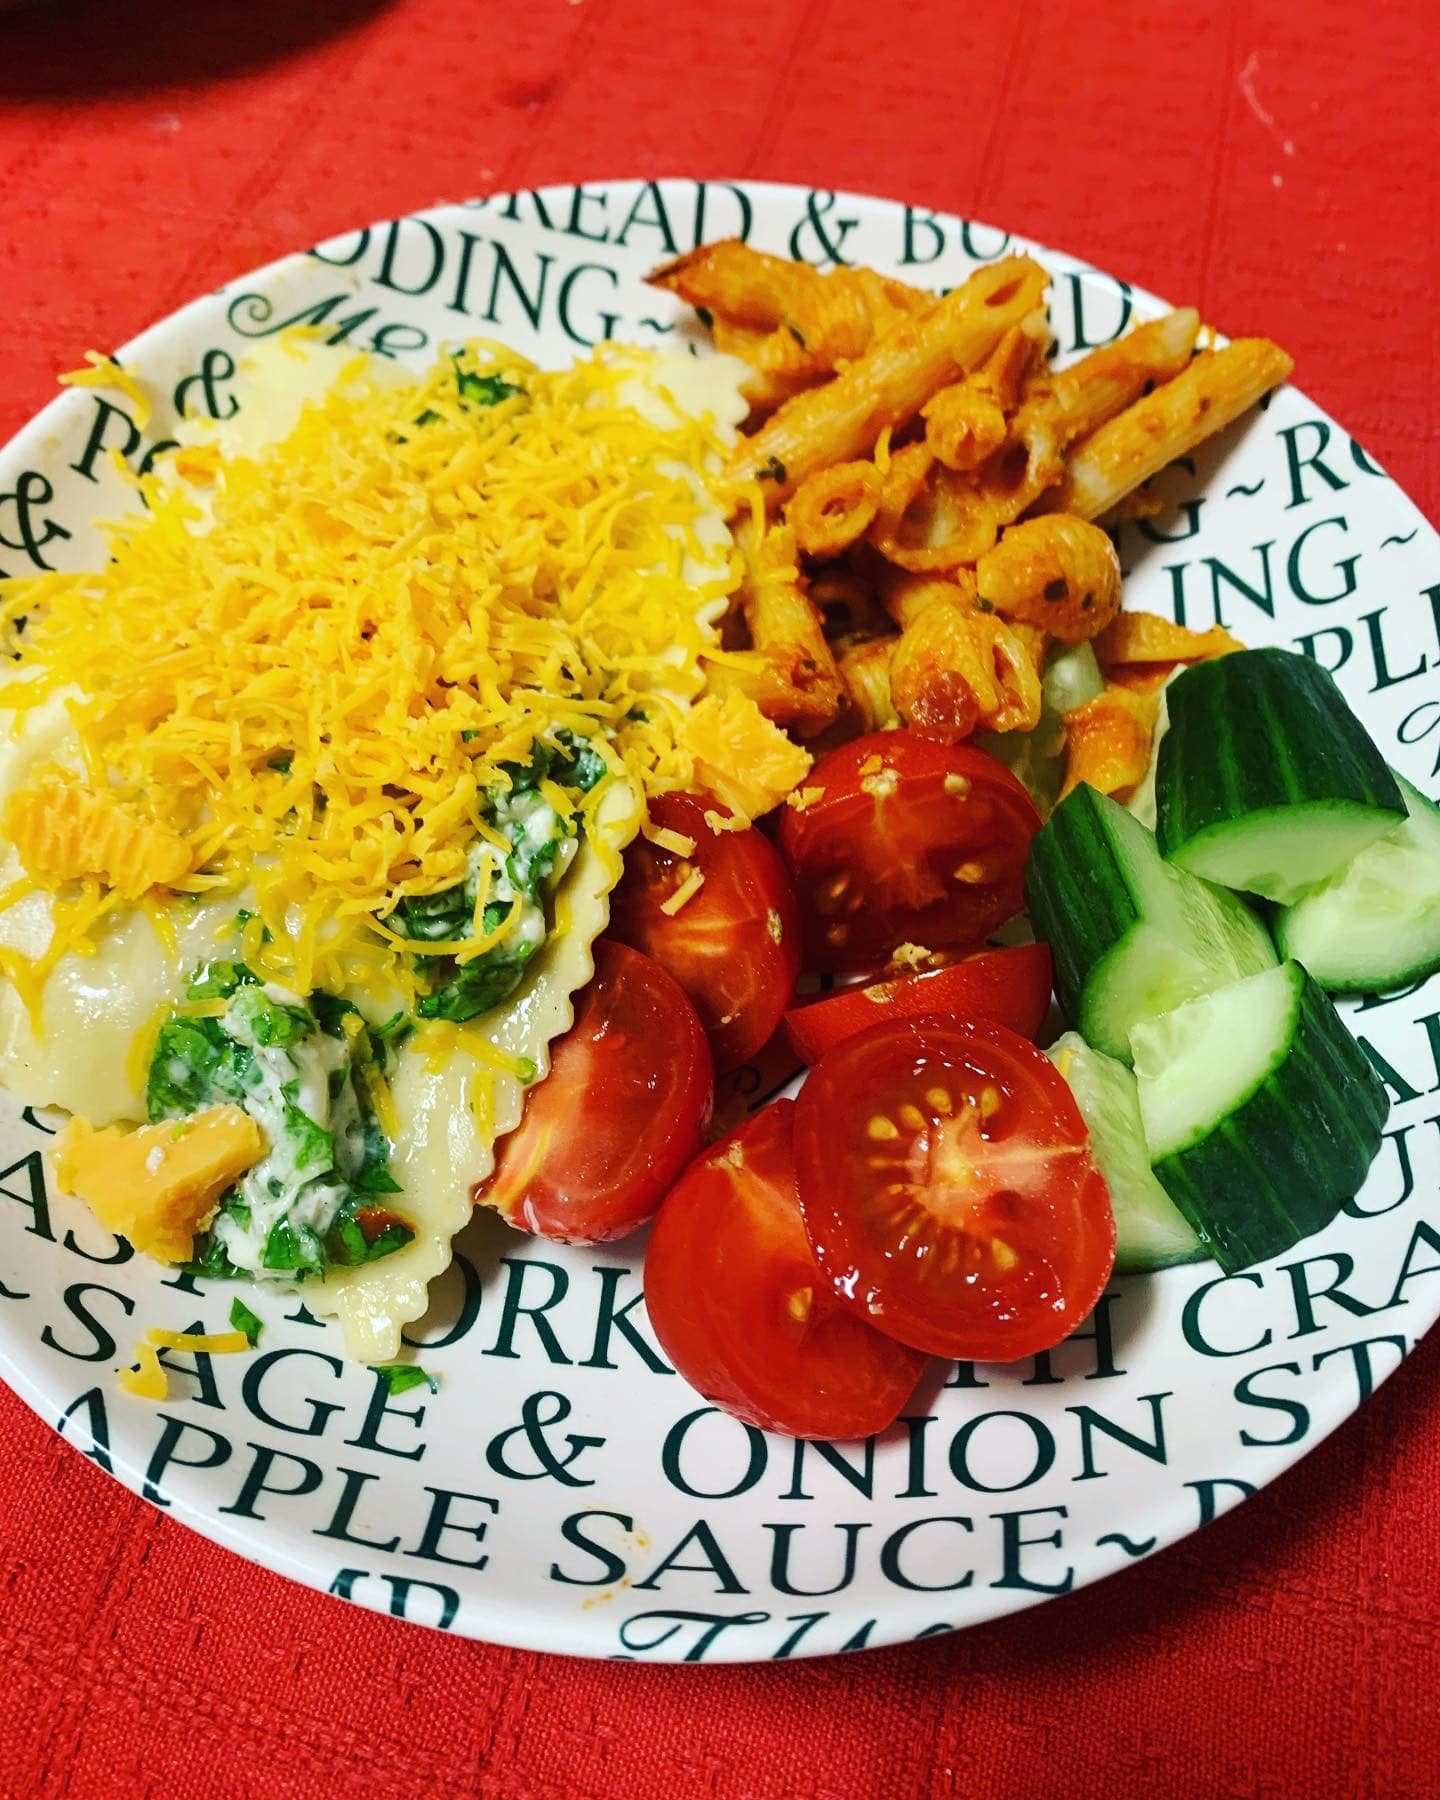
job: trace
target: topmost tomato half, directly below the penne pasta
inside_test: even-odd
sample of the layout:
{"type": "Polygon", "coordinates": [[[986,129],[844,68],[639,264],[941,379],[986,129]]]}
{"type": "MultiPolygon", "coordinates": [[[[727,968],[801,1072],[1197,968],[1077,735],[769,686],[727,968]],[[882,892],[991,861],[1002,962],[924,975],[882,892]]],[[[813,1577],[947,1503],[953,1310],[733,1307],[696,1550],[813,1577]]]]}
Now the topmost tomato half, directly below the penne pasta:
{"type": "Polygon", "coordinates": [[[985,751],[875,731],[823,756],[806,794],[783,808],[779,848],[812,967],[877,968],[902,943],[958,950],[1021,911],[1040,817],[985,751]]]}

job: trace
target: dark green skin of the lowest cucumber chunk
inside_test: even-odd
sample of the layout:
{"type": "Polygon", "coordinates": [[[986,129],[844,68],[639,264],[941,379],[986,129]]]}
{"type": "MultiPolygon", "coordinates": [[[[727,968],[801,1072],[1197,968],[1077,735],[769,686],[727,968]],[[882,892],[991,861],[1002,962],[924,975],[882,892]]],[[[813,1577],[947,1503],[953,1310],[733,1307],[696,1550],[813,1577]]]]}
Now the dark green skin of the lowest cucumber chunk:
{"type": "Polygon", "coordinates": [[[1364,1183],[1390,1098],[1330,997],[1298,970],[1285,1062],[1199,1143],[1154,1163],[1156,1179],[1233,1274],[1325,1229],[1364,1183]]]}

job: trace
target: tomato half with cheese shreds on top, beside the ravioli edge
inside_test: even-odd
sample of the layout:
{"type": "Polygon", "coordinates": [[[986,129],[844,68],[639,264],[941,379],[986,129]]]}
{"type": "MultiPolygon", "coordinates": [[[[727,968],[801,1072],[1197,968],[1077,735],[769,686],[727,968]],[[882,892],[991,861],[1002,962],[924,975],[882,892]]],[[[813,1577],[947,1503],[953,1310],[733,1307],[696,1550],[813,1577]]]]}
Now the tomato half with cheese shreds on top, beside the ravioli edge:
{"type": "Polygon", "coordinates": [[[662,963],[689,995],[722,1073],[752,1057],[779,1024],[799,974],[799,914],[774,844],[754,826],[711,832],[693,794],[662,794],[650,821],[695,839],[689,857],[639,837],[610,905],[610,932],[662,963]],[[664,904],[698,869],[679,913],[664,904]]]}

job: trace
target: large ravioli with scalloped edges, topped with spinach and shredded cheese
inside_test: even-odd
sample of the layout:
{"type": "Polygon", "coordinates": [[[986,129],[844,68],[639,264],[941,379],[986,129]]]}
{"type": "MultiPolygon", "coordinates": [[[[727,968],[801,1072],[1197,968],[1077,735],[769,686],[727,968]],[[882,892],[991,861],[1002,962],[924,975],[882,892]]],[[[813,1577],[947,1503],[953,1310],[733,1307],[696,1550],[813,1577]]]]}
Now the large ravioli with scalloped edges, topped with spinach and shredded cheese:
{"type": "MultiPolygon", "coordinates": [[[[243,373],[245,410],[182,427],[148,490],[155,517],[117,527],[106,572],[5,594],[20,659],[0,691],[0,1080],[77,1114],[88,1154],[65,1166],[101,1184],[95,1127],[185,1132],[241,1105],[263,1125],[248,1172],[137,1247],[164,1256],[193,1235],[202,1274],[302,1280],[353,1355],[387,1361],[572,1021],[646,788],[691,779],[697,652],[718,646],[734,587],[711,472],[745,405],[736,365],[677,353],[544,376],[466,351],[407,385],[283,340],[243,373]],[[506,457],[527,455],[549,488],[536,461],[506,490],[506,457]],[[337,457],[347,486],[317,513],[337,457]],[[297,472],[272,542],[266,484],[297,472]],[[409,517],[391,527],[396,488],[409,517]],[[491,495],[511,517],[486,538],[491,495]],[[234,587],[212,549],[247,545],[234,587]],[[499,587],[466,587],[486,578],[499,587]],[[176,580],[189,673],[166,688],[176,580]],[[234,589],[238,650],[193,598],[214,583],[221,607],[234,589]],[[97,652],[106,607],[126,601],[122,637],[97,652]],[[299,684],[279,679],[295,652],[265,635],[265,608],[310,634],[299,684]],[[356,684],[371,652],[376,679],[356,684]],[[169,787],[148,788],[160,769],[169,787]],[[70,796],[77,824],[41,853],[32,828],[70,796]],[[97,851],[86,862],[86,821],[115,806],[131,835],[162,817],[166,842],[187,844],[185,873],[139,902],[97,851]]],[[[139,1157],[117,1161],[137,1179],[139,1157]]],[[[110,1217],[153,1213],[110,1199],[110,1217]]]]}

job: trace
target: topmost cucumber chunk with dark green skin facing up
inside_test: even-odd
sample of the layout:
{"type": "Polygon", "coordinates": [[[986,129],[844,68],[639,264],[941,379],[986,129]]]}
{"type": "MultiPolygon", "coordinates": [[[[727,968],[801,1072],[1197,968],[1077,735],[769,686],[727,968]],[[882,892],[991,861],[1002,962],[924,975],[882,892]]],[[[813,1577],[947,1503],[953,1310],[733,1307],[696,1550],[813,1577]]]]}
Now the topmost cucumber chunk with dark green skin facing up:
{"type": "Polygon", "coordinates": [[[1404,819],[1395,776],[1309,657],[1197,662],[1168,711],[1156,835],[1192,875],[1291,905],[1404,819]]]}

